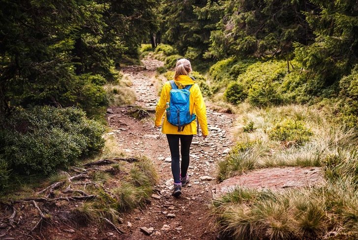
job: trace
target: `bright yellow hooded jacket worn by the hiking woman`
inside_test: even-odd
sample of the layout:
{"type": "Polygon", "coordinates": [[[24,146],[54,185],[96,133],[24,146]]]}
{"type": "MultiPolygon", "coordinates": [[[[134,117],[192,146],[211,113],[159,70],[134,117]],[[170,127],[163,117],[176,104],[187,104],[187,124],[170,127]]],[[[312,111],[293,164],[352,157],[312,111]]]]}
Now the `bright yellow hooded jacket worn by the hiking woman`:
{"type": "MultiPolygon", "coordinates": [[[[195,84],[195,81],[191,79],[188,75],[179,75],[175,79],[175,83],[180,87],[186,85],[193,85],[190,88],[190,114],[193,114],[191,111],[194,111],[196,117],[198,118],[200,128],[202,130],[203,135],[208,135],[208,122],[207,122],[207,110],[204,103],[203,95],[200,91],[198,84],[195,84]],[[193,110],[192,110],[193,109],[193,110]]],[[[162,89],[162,93],[160,94],[159,102],[155,108],[155,126],[160,126],[163,114],[165,112],[166,103],[170,102],[170,90],[172,87],[170,86],[169,81],[167,81],[162,89]]],[[[181,134],[181,135],[196,135],[197,126],[196,121],[192,121],[188,125],[185,125],[184,130],[180,133],[178,132],[178,127],[170,124],[167,120],[167,116],[164,116],[163,121],[163,134],[181,134]]]]}

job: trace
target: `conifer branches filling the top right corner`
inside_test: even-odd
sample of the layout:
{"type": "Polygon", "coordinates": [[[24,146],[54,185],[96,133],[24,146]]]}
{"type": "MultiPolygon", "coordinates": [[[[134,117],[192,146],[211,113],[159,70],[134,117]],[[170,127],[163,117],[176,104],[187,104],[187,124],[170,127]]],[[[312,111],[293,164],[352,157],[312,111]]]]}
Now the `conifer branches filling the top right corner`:
{"type": "Polygon", "coordinates": [[[339,80],[358,63],[356,26],[358,3],[354,0],[310,0],[317,6],[305,11],[308,26],[315,34],[311,44],[295,45],[296,59],[319,75],[327,87],[339,80]]]}

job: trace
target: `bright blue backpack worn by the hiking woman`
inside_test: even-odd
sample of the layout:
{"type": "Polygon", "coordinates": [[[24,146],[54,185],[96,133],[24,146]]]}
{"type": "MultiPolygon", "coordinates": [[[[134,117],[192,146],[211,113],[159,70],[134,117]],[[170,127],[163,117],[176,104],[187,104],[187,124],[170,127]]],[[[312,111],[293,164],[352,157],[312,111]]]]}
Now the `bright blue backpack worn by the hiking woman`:
{"type": "Polygon", "coordinates": [[[184,126],[195,120],[196,115],[190,114],[189,99],[190,88],[192,85],[187,85],[183,89],[179,89],[173,80],[169,81],[172,89],[170,90],[170,103],[167,108],[168,122],[174,126],[178,126],[178,132],[184,130],[184,126]]]}

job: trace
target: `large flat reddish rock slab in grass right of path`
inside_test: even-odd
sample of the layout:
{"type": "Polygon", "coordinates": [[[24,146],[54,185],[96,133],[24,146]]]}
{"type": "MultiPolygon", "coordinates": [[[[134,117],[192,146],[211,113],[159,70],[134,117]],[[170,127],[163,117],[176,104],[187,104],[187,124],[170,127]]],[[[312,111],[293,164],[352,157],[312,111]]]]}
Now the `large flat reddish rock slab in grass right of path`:
{"type": "Polygon", "coordinates": [[[226,179],[213,187],[212,195],[215,199],[237,187],[281,190],[312,187],[322,185],[324,182],[319,167],[266,168],[226,179]]]}

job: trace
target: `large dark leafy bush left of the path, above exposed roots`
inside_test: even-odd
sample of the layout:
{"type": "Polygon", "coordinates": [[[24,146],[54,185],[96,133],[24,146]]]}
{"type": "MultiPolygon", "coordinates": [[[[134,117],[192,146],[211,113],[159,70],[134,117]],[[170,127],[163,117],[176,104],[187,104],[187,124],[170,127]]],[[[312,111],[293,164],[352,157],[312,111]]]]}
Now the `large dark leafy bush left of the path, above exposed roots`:
{"type": "Polygon", "coordinates": [[[104,128],[77,108],[17,108],[8,125],[2,157],[20,173],[49,174],[104,146],[104,128]]]}

